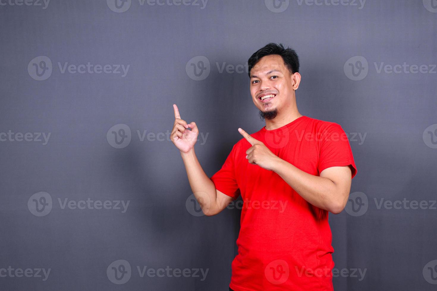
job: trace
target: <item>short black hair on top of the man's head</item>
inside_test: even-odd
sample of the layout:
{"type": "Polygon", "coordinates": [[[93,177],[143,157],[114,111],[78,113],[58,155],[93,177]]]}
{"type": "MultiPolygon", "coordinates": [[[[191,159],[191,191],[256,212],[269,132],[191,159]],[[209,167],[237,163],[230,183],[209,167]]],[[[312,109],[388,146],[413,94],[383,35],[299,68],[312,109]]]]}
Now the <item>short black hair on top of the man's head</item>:
{"type": "Polygon", "coordinates": [[[266,55],[280,55],[291,74],[299,72],[299,58],[296,54],[296,51],[292,48],[284,48],[284,45],[282,44],[275,44],[274,42],[271,42],[250,56],[249,60],[247,61],[249,78],[250,71],[252,70],[253,66],[256,65],[257,62],[259,62],[259,60],[266,55]]]}

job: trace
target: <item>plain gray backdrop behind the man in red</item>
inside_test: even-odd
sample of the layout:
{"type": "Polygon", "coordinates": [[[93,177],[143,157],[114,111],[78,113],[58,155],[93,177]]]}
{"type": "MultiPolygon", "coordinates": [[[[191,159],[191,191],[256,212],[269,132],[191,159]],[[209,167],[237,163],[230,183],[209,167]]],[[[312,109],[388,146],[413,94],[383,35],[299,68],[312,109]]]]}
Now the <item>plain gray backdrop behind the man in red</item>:
{"type": "Polygon", "coordinates": [[[172,104],[211,177],[264,126],[246,62],[268,42],[357,164],[335,290],[436,289],[437,1],[275,1],[0,0],[1,290],[227,290],[240,209],[199,213],[172,104]]]}

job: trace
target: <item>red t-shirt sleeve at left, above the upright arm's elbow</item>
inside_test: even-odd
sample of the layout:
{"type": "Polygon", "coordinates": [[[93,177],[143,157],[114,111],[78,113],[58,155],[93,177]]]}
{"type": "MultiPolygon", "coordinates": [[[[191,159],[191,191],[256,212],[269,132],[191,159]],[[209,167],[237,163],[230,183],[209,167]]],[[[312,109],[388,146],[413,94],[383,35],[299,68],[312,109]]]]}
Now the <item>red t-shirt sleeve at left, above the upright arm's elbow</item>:
{"type": "Polygon", "coordinates": [[[232,147],[231,152],[225,160],[222,168],[212,175],[211,180],[215,188],[224,194],[236,199],[239,196],[238,185],[235,176],[235,151],[236,144],[232,147]]]}

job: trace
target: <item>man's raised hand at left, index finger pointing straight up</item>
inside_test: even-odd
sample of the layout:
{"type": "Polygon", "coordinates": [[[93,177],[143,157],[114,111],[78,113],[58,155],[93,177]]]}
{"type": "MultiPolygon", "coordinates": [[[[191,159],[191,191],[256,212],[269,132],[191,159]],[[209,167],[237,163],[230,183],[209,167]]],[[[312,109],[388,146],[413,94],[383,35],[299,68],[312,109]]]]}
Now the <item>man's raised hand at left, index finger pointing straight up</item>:
{"type": "Polygon", "coordinates": [[[175,119],[170,139],[181,153],[187,153],[194,148],[194,144],[199,135],[199,130],[194,121],[187,123],[185,120],[180,119],[179,110],[177,109],[176,104],[173,104],[173,110],[175,119]]]}

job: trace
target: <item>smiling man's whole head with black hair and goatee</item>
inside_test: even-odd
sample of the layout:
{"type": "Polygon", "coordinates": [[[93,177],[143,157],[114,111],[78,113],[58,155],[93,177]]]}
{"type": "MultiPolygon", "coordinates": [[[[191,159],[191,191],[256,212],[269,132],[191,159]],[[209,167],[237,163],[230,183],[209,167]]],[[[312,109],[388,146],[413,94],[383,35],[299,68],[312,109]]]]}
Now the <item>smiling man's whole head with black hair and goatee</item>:
{"type": "Polygon", "coordinates": [[[293,49],[270,43],[256,51],[247,63],[250,94],[262,119],[274,119],[281,111],[295,106],[300,74],[299,58],[293,49]]]}

